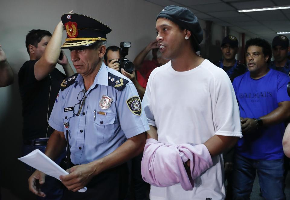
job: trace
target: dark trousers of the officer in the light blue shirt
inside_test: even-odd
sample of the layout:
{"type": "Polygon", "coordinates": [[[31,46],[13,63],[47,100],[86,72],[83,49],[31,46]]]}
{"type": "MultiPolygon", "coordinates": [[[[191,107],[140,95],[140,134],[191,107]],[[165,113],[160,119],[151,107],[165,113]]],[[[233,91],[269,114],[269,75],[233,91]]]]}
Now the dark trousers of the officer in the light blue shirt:
{"type": "Polygon", "coordinates": [[[101,172],[86,187],[86,192],[72,192],[66,188],[63,200],[123,200],[128,189],[127,163],[101,172]]]}

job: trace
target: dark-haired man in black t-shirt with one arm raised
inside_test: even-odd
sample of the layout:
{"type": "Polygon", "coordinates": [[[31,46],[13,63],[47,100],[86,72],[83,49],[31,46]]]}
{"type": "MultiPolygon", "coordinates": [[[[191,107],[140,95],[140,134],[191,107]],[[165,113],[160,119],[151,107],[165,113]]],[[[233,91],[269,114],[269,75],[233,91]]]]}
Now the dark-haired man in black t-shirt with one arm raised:
{"type": "MultiPolygon", "coordinates": [[[[60,83],[66,76],[74,74],[67,57],[60,56],[63,25],[59,23],[53,35],[46,30],[31,30],[26,35],[25,45],[30,60],[26,61],[18,72],[18,83],[22,100],[23,115],[23,148],[26,155],[35,149],[45,151],[47,141],[54,131],[48,125],[48,118],[57,101],[60,83]],[[49,42],[50,39],[52,42],[49,42]],[[55,68],[56,63],[63,66],[66,76],[55,68]]],[[[55,160],[60,163],[65,155],[55,160]]],[[[30,173],[34,169],[26,166],[30,173]]],[[[47,194],[39,199],[61,199],[63,189],[61,183],[52,177],[47,177],[41,188],[47,194]]]]}

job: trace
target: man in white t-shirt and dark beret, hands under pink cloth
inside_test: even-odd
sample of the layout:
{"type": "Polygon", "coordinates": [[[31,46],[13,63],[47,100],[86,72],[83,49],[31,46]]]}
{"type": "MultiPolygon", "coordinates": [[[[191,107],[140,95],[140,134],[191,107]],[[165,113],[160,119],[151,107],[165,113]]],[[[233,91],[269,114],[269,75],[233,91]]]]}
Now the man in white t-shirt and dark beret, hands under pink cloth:
{"type": "MultiPolygon", "coordinates": [[[[212,166],[194,179],[192,191],[185,191],[180,183],[151,185],[150,199],[224,199],[221,154],[242,137],[231,81],[224,70],[195,53],[203,33],[197,17],[187,8],[164,8],[157,16],[156,32],[162,56],[171,62],[154,69],[147,83],[142,101],[150,125],[147,142],[153,138],[161,143],[204,144],[212,166]]],[[[184,163],[190,167],[190,160],[184,163]]]]}

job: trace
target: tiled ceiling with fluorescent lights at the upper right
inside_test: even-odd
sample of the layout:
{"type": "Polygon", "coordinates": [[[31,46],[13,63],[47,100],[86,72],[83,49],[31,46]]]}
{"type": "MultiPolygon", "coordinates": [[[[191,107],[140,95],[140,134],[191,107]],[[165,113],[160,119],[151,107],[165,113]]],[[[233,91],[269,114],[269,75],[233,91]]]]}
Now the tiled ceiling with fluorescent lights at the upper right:
{"type": "MultiPolygon", "coordinates": [[[[190,9],[198,19],[272,41],[276,32],[290,31],[290,9],[239,13],[237,9],[290,5],[290,0],[145,0],[156,5],[190,9]]],[[[290,34],[286,36],[290,37],[290,34]]]]}

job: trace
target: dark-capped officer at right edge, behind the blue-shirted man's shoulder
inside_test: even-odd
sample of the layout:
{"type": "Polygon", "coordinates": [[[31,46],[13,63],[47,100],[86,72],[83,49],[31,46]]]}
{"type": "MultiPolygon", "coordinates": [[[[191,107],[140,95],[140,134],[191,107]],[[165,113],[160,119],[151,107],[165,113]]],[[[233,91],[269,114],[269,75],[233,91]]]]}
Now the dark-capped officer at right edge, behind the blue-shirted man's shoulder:
{"type": "Polygon", "coordinates": [[[287,58],[289,50],[289,40],[285,35],[278,35],[272,41],[272,52],[274,61],[270,62],[269,67],[289,75],[290,60],[287,58]]]}

